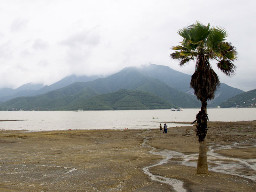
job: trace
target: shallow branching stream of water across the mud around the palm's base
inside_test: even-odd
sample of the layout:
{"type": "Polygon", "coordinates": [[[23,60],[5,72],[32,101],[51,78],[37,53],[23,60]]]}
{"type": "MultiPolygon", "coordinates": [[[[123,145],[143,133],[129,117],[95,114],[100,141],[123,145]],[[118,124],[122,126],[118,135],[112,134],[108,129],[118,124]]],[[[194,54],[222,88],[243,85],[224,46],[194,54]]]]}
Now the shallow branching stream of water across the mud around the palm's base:
{"type": "MultiPolygon", "coordinates": [[[[153,175],[148,170],[151,167],[158,166],[164,163],[174,163],[174,164],[181,164],[181,165],[196,167],[198,153],[185,155],[177,151],[156,149],[151,146],[148,146],[146,144],[147,141],[148,140],[146,138],[142,146],[151,148],[152,150],[149,151],[150,153],[163,156],[165,157],[165,159],[162,159],[157,164],[144,167],[143,172],[147,174],[152,180],[171,185],[176,191],[186,192],[186,189],[182,187],[183,181],[165,178],[158,175],[153,175]],[[194,160],[194,161],[191,161],[191,160],[194,160]]],[[[256,180],[256,159],[240,159],[235,157],[226,157],[217,153],[218,150],[223,150],[223,149],[253,148],[253,147],[256,147],[256,140],[233,142],[232,144],[225,145],[225,146],[220,144],[215,144],[215,143],[208,143],[208,146],[209,146],[209,150],[207,151],[207,161],[208,161],[209,171],[236,175],[236,176],[244,177],[246,179],[250,179],[253,181],[256,180]],[[255,145],[252,145],[252,143],[255,143],[255,145]]]]}

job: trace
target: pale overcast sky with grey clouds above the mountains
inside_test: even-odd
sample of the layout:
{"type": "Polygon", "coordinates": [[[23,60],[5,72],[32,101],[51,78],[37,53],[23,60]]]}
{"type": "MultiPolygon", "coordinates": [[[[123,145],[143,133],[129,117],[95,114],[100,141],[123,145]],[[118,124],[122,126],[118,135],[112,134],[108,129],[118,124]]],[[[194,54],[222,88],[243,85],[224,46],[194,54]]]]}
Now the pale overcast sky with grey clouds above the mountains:
{"type": "Polygon", "coordinates": [[[50,85],[65,76],[110,75],[128,66],[165,65],[177,30],[196,20],[228,31],[239,54],[236,76],[222,83],[256,88],[255,1],[237,0],[0,0],[0,87],[50,85]]]}

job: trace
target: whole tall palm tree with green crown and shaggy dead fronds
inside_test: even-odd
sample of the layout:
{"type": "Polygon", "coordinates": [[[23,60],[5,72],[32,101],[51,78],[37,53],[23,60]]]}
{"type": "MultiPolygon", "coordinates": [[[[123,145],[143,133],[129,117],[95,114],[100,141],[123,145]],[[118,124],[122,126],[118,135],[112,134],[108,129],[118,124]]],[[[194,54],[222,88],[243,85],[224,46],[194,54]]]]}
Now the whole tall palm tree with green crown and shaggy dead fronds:
{"type": "MultiPolygon", "coordinates": [[[[233,61],[237,59],[236,48],[225,38],[227,31],[221,27],[210,27],[210,23],[204,25],[198,21],[178,30],[182,37],[180,45],[172,47],[170,57],[179,60],[179,65],[184,66],[189,61],[196,60],[195,73],[191,76],[190,87],[201,101],[202,107],[196,115],[196,136],[199,140],[199,155],[197,173],[207,173],[207,100],[214,98],[215,91],[220,87],[218,75],[212,69],[211,60],[216,60],[217,67],[227,76],[233,76],[236,66],[233,61]]],[[[194,121],[194,122],[195,122],[194,121]]],[[[193,123],[194,123],[193,122],[193,123]]]]}

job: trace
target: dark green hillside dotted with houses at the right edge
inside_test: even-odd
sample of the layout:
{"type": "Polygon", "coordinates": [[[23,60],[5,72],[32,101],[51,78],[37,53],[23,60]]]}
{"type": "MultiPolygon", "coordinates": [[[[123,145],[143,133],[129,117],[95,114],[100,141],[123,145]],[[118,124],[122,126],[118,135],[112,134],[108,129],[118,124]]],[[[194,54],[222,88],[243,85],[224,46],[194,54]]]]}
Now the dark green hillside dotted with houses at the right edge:
{"type": "Polygon", "coordinates": [[[220,104],[221,108],[256,107],[256,89],[240,93],[220,104]]]}

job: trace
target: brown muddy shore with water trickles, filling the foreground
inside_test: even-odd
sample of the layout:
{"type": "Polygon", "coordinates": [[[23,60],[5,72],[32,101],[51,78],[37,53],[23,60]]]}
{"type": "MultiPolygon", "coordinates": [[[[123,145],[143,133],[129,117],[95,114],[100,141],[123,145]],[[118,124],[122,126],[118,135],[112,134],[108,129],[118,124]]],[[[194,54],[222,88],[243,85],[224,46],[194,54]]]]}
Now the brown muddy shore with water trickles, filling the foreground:
{"type": "Polygon", "coordinates": [[[209,173],[201,175],[195,126],[0,131],[0,191],[256,191],[256,122],[208,127],[209,173]]]}

